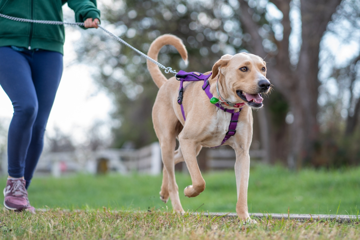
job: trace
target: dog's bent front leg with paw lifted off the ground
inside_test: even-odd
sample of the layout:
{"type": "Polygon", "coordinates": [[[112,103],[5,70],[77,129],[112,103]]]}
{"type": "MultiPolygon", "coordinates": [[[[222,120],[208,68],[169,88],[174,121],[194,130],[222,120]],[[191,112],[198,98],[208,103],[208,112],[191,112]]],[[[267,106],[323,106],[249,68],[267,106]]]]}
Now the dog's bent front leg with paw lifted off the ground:
{"type": "Polygon", "coordinates": [[[185,196],[192,198],[199,195],[205,189],[205,180],[201,176],[198,162],[196,160],[196,156],[199,154],[202,147],[199,147],[198,144],[195,144],[189,139],[181,139],[181,137],[179,137],[179,142],[193,183],[184,189],[184,194],[185,196]]]}

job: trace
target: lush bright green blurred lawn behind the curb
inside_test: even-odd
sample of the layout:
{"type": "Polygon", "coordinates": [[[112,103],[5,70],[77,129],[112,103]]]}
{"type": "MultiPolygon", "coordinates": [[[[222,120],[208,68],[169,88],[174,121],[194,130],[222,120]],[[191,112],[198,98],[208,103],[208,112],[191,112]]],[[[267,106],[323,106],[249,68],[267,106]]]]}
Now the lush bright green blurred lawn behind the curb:
{"type": "MultiPolygon", "coordinates": [[[[186,210],[235,212],[237,201],[233,171],[205,173],[206,189],[195,198],[183,194],[190,176],[176,175],[180,200],[186,210]],[[202,205],[203,204],[203,205],[202,205]]],[[[35,177],[29,199],[36,208],[66,209],[171,209],[159,199],[162,176],[75,175],[35,177]]],[[[0,179],[5,183],[5,178],[0,179]]],[[[263,213],[354,214],[360,205],[360,168],[342,171],[256,166],[250,170],[248,208],[263,213]]],[[[0,203],[3,202],[1,196],[0,203]]]]}

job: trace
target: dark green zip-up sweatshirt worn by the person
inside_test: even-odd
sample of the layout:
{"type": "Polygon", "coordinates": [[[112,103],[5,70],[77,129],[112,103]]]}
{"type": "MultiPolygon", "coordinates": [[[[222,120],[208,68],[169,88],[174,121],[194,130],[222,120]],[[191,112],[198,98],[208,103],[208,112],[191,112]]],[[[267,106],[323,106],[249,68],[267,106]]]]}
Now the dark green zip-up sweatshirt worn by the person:
{"type": "MultiPolygon", "coordinates": [[[[96,0],[0,0],[0,13],[18,18],[63,21],[62,5],[75,11],[75,21],[100,19],[96,0]]],[[[0,46],[44,49],[64,54],[63,25],[15,22],[0,17],[0,46]]]]}

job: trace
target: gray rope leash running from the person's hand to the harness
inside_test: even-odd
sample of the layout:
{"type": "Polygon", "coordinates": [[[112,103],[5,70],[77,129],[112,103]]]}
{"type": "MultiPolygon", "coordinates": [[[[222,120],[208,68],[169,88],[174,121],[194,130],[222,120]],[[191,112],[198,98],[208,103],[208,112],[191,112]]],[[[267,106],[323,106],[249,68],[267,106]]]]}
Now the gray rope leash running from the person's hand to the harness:
{"type": "MultiPolygon", "coordinates": [[[[2,18],[6,18],[12,21],[17,21],[17,22],[26,22],[26,23],[41,23],[41,24],[50,24],[50,25],[77,25],[77,26],[84,26],[84,23],[67,23],[67,22],[61,22],[61,21],[47,21],[47,20],[32,20],[32,19],[26,19],[26,18],[15,18],[15,17],[11,17],[5,14],[1,14],[0,13],[0,17],[2,18]]],[[[144,58],[148,59],[150,62],[158,65],[160,68],[165,70],[165,73],[172,73],[174,74],[174,76],[177,74],[176,70],[172,70],[171,67],[165,67],[164,65],[162,65],[161,63],[155,61],[154,59],[150,58],[148,55],[146,55],[145,53],[139,51],[138,49],[136,49],[135,47],[131,46],[130,44],[128,44],[127,42],[125,42],[124,40],[122,40],[120,37],[114,35],[113,33],[109,32],[108,30],[106,30],[105,28],[103,28],[100,24],[97,24],[99,28],[101,28],[104,32],[106,32],[107,34],[109,34],[110,36],[112,36],[114,39],[118,40],[119,42],[121,42],[123,45],[130,47],[132,50],[134,50],[136,53],[138,53],[139,55],[143,56],[144,58]]]]}

